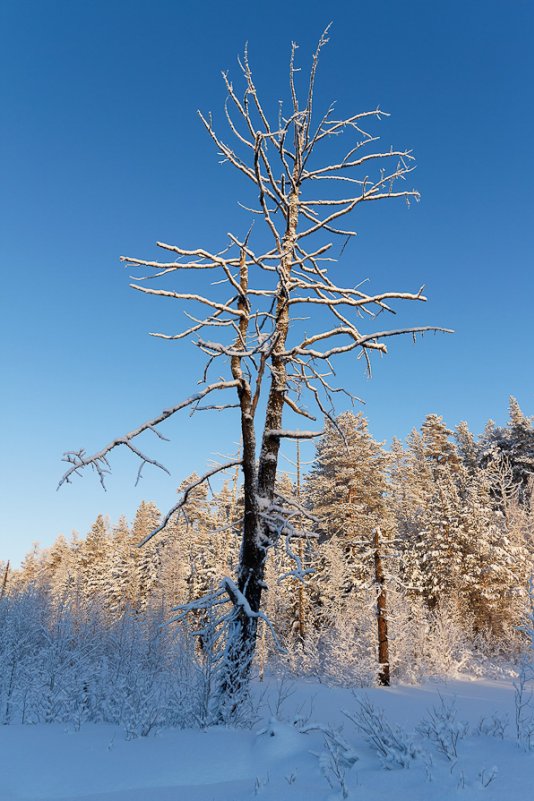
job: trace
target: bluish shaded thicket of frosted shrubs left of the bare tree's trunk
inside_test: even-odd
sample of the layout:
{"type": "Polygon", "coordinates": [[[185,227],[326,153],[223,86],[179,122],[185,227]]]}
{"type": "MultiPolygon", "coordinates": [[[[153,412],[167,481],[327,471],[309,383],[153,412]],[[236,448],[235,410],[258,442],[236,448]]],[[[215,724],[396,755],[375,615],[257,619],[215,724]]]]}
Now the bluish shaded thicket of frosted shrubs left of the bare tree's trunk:
{"type": "MultiPolygon", "coordinates": [[[[95,602],[79,614],[27,590],[0,600],[0,721],[115,723],[129,737],[163,726],[205,726],[212,646],[202,649],[162,610],[109,619],[95,602]]],[[[239,722],[252,719],[240,709],[239,722]],[[247,718],[248,719],[248,718],[247,718]]]]}

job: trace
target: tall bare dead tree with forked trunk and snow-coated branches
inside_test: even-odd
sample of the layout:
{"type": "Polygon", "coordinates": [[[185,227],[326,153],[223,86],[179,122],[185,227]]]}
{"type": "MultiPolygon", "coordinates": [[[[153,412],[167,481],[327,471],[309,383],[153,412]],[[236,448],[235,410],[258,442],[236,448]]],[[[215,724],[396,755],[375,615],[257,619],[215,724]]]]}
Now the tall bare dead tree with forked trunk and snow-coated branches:
{"type": "MultiPolygon", "coordinates": [[[[312,438],[320,432],[285,428],[284,410],[287,407],[293,415],[311,421],[316,420],[317,414],[321,418],[326,416],[335,425],[335,394],[353,398],[346,389],[332,383],[335,357],[353,353],[363,356],[369,366],[372,352],[386,353],[389,337],[438,330],[371,327],[370,331],[363,331],[363,321],[372,324],[378,313],[393,312],[391,300],[425,301],[422,288],[414,293],[368,294],[360,286],[343,286],[330,277],[329,266],[335,261],[334,241],[341,238],[346,243],[355,235],[343,226],[349,214],[365,203],[393,199],[409,202],[417,200],[419,195],[405,186],[413,170],[412,153],[376,149],[379,137],[366,130],[367,123],[386,117],[384,112],[377,108],[338,119],[331,105],[316,117],[315,79],[320,51],[328,41],[327,33],[328,29],[313,55],[302,100],[297,89],[300,77],[295,65],[297,46],[293,44],[289,64],[290,105],[285,112],[280,104],[274,121],[260,100],[246,49],[239,61],[244,91],[238,93],[228,73],[223,73],[227,91],[225,116],[234,144],[227,144],[216,132],[211,115],[199,112],[222,161],[241,173],[252,187],[257,203],[246,208],[259,221],[260,230],[253,227],[242,237],[229,233],[225,247],[215,253],[202,247],[184,248],[158,242],[157,246],[170,254],[170,260],[121,257],[128,266],[146,271],[131,284],[133,289],[185,304],[188,327],[178,333],[153,336],[173,341],[190,339],[205,354],[201,388],[91,456],[83,450],[67,452],[64,458],[70,466],[60,482],[69,482],[74,474],[90,465],[103,483],[109,470],[109,455],[121,445],[140,459],[139,472],[145,464],[165,470],[139,449],[136,440],[141,433],[151,430],[161,436],[157,426],[185,408],[213,409],[219,413],[229,407],[239,409],[240,456],[213,467],[187,487],[161,525],[144,540],[147,542],[165,529],[183,508],[194,486],[209,481],[222,470],[241,466],[244,517],[236,581],[224,579],[215,593],[199,602],[202,605],[226,602],[229,608],[222,618],[228,629],[221,684],[229,698],[235,697],[246,684],[258,622],[265,619],[261,598],[268,550],[282,536],[296,536],[292,521],[302,520],[308,514],[297,501],[277,495],[278,456],[284,438],[312,438]],[[323,146],[340,135],[351,139],[346,152],[321,166],[319,155],[323,146]],[[323,191],[316,194],[317,190],[323,191]],[[253,248],[253,233],[260,242],[259,249],[253,248]],[[267,246],[262,244],[265,241],[267,246]],[[154,288],[146,283],[163,277],[177,278],[183,271],[194,271],[199,286],[204,284],[206,288],[192,293],[180,288],[178,291],[154,288]],[[193,313],[194,309],[199,311],[193,313]],[[320,312],[313,333],[303,332],[299,322],[302,318],[298,317],[302,311],[320,312]],[[332,322],[325,326],[327,315],[332,322]],[[211,379],[215,369],[222,378],[211,379]],[[262,394],[265,397],[260,403],[262,394]],[[220,400],[202,404],[212,396],[220,396],[220,400]],[[306,408],[307,399],[311,408],[306,408]]],[[[294,555],[293,575],[302,577],[298,554],[294,555]]]]}

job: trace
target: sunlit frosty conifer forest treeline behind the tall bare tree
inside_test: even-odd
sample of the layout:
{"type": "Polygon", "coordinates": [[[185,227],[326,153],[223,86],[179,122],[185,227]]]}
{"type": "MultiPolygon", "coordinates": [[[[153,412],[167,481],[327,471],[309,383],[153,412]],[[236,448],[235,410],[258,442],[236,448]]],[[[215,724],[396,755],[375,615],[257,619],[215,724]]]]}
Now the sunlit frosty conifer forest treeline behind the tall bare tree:
{"type": "MultiPolygon", "coordinates": [[[[514,398],[505,426],[490,421],[475,437],[465,423],[453,432],[430,414],[405,444],[394,441],[389,450],[372,437],[362,414],[346,412],[329,422],[311,469],[301,475],[298,465],[296,480],[279,477],[279,495],[295,509],[296,535],[281,536],[269,556],[265,612],[285,650],[264,626],[259,670],[281,668],[350,684],[376,681],[380,593],[393,679],[483,670],[488,660],[515,658],[533,569],[533,473],[533,421],[514,398]]],[[[132,525],[125,517],[110,525],[99,515],[84,538],[60,536],[47,549],[36,545],[18,570],[0,562],[4,717],[5,698],[13,706],[13,688],[26,686],[20,678],[24,658],[30,659],[28,675],[33,670],[28,654],[35,647],[21,656],[25,637],[34,644],[41,637],[45,650],[54,641],[57,649],[54,637],[68,629],[70,646],[60,636],[65,659],[80,638],[91,644],[91,653],[100,653],[100,642],[96,666],[84,651],[82,662],[92,665],[93,677],[84,679],[86,688],[96,681],[102,659],[110,669],[108,651],[120,653],[117,643],[129,643],[130,661],[123,654],[120,662],[127,675],[144,675],[154,659],[154,669],[164,669],[160,650],[172,651],[179,627],[162,628],[161,622],[233,575],[242,525],[238,474],[218,491],[197,487],[180,515],[138,548],[160,518],[154,503],[142,502],[132,525]]],[[[191,613],[189,630],[201,636],[200,645],[188,648],[194,670],[209,684],[206,660],[216,646],[209,642],[208,617],[208,611],[191,613]]],[[[183,651],[189,634],[180,637],[183,651]]],[[[183,659],[180,664],[183,671],[183,659]]],[[[80,665],[76,670],[83,673],[80,665]]],[[[146,679],[146,686],[151,682],[146,679]]],[[[168,686],[177,692],[175,682],[168,686]]],[[[23,706],[27,692],[24,697],[23,706]]],[[[39,714],[30,718],[45,719],[39,714]]]]}

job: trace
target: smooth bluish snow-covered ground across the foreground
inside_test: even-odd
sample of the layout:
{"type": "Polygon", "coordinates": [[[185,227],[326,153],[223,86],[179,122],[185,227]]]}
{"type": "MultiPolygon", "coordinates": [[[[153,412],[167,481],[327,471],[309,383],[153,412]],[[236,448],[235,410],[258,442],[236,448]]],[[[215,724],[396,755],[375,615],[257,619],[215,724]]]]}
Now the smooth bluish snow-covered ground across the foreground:
{"type": "Polygon", "coordinates": [[[375,710],[384,710],[393,726],[386,739],[398,735],[385,757],[343,714],[361,711],[350,690],[309,682],[280,686],[274,680],[256,690],[262,701],[250,729],[164,730],[127,740],[121,729],[105,724],[85,724],[78,731],[59,724],[0,727],[0,799],[534,798],[534,752],[516,742],[510,683],[455,680],[357,691],[375,710]],[[425,734],[416,727],[425,717],[428,722],[433,707],[450,710],[451,701],[456,720],[450,713],[448,723],[441,719],[434,727],[452,751],[450,743],[459,734],[456,755],[447,757],[428,729],[425,734]]]}

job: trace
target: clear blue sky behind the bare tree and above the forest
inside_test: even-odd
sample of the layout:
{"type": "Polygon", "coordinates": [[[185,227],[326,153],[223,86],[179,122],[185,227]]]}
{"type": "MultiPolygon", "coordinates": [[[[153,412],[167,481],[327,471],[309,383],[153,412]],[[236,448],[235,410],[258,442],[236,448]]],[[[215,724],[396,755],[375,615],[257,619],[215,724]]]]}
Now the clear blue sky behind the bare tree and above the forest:
{"type": "Polygon", "coordinates": [[[379,439],[425,414],[479,431],[516,395],[534,414],[532,296],[534,5],[530,0],[182,3],[3,0],[0,4],[2,447],[0,558],[84,534],[98,512],[168,508],[187,473],[238,439],[230,417],[176,419],[156,453],[120,454],[103,493],[87,474],[56,493],[69,448],[95,450],[189,394],[198,351],[154,340],[178,308],[128,289],[120,254],[157,239],[218,247],[242,233],[241,183],[196,117],[219,119],[221,69],[249,42],[258,87],[286,95],[289,46],[303,65],[333,19],[318,101],[380,105],[384,144],[411,147],[422,202],[355,218],[339,270],[431,299],[399,322],[454,336],[395,342],[375,367],[341,371],[379,439]]]}

